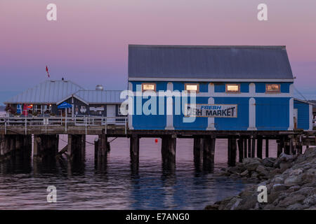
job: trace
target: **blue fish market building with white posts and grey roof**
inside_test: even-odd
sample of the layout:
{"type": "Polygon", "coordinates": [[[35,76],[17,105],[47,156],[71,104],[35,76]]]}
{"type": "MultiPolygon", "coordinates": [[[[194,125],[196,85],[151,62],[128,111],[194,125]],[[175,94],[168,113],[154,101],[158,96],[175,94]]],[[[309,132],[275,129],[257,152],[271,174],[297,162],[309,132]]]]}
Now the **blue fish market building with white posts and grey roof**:
{"type": "MultiPolygon", "coordinates": [[[[294,76],[285,46],[129,45],[129,90],[135,95],[194,90],[197,106],[235,108],[233,116],[209,114],[184,123],[183,111],[175,113],[178,96],[172,97],[172,115],[166,115],[166,99],[163,105],[158,100],[154,105],[164,113],[149,115],[136,113],[139,105],[134,100],[131,130],[312,128],[311,105],[294,100],[294,76]]],[[[140,97],[138,102],[144,106],[148,99],[140,97]]]]}

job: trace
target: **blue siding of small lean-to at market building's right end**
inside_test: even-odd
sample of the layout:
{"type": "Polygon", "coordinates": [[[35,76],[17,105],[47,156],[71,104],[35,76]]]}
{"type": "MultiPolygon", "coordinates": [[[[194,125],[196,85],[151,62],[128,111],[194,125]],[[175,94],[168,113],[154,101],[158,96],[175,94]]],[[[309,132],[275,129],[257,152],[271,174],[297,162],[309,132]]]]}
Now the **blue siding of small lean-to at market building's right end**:
{"type": "Polygon", "coordinates": [[[297,128],[308,130],[310,128],[310,105],[294,100],[294,109],[297,109],[297,128]]]}

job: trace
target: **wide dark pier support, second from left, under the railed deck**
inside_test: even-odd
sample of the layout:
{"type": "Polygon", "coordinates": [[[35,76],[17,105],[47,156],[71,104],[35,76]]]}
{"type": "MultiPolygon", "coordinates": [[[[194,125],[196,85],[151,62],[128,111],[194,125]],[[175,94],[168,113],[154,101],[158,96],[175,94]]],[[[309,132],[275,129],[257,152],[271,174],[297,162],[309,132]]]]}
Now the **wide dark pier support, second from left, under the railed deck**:
{"type": "Polygon", "coordinates": [[[43,158],[58,153],[58,134],[34,134],[33,157],[43,158]]]}

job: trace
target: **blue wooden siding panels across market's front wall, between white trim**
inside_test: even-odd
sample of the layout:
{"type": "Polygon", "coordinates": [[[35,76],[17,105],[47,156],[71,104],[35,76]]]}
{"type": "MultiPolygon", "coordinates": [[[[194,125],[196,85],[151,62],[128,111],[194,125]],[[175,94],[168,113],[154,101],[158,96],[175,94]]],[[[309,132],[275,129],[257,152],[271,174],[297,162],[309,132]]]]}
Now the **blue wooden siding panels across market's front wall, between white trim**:
{"type": "MultiPolygon", "coordinates": [[[[132,82],[133,91],[136,85],[145,82],[132,82]]],[[[157,83],[156,88],[166,90],[169,82],[157,83]]],[[[173,82],[173,90],[181,92],[187,82],[173,82]]],[[[196,83],[196,82],[190,82],[196,83]]],[[[226,83],[214,83],[215,92],[225,92],[226,83]]],[[[249,92],[249,83],[239,83],[241,92],[249,92]]],[[[281,92],[289,92],[291,83],[281,84],[281,92]]],[[[209,83],[199,83],[200,92],[208,92],[209,83]]],[[[265,83],[255,83],[256,92],[265,92],[265,83]]],[[[139,89],[140,90],[140,89],[139,89]]],[[[213,97],[213,96],[209,96],[213,97]]],[[[208,104],[209,97],[197,97],[197,104],[208,104]]],[[[213,97],[214,104],[237,104],[237,118],[214,118],[216,130],[247,130],[249,127],[249,97],[213,97]]],[[[288,130],[289,128],[289,100],[290,97],[255,97],[256,99],[256,128],[257,130],[288,130]]],[[[142,107],[148,99],[141,99],[142,107]]],[[[190,97],[187,99],[190,103],[190,97]]],[[[173,97],[173,105],[176,98],[173,97]]],[[[159,100],[157,99],[157,115],[136,115],[136,101],[134,101],[133,128],[135,130],[164,130],[166,128],[166,97],[164,99],[164,115],[159,113],[159,100]]],[[[206,130],[208,118],[196,118],[193,123],[183,123],[183,111],[176,115],[173,108],[173,127],[175,130],[206,130]]],[[[303,115],[308,119],[308,116],[303,115]]],[[[304,126],[305,127],[305,126],[304,126]]]]}

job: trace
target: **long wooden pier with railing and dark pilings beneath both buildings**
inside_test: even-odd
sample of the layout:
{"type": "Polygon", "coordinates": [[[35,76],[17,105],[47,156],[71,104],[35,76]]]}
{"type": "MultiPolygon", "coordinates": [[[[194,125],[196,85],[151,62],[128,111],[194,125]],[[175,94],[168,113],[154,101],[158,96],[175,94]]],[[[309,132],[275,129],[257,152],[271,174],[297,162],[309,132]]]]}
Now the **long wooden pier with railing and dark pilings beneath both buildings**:
{"type": "Polygon", "coordinates": [[[302,153],[303,146],[315,146],[316,131],[219,131],[219,130],[129,130],[127,118],[105,117],[1,117],[0,157],[11,155],[31,147],[34,158],[60,155],[67,152],[70,160],[85,153],[86,135],[97,135],[94,141],[96,165],[107,160],[110,151],[109,137],[130,139],[130,156],[133,169],[139,162],[141,138],[162,139],[162,162],[168,169],[176,166],[176,139],[194,139],[192,153],[196,164],[202,162],[203,169],[213,170],[216,139],[228,139],[228,165],[235,166],[237,153],[239,162],[243,158],[269,156],[269,141],[277,141],[277,155],[302,153]],[[67,134],[67,146],[58,152],[59,134],[67,134]],[[265,141],[265,149],[263,149],[265,141]]]}

